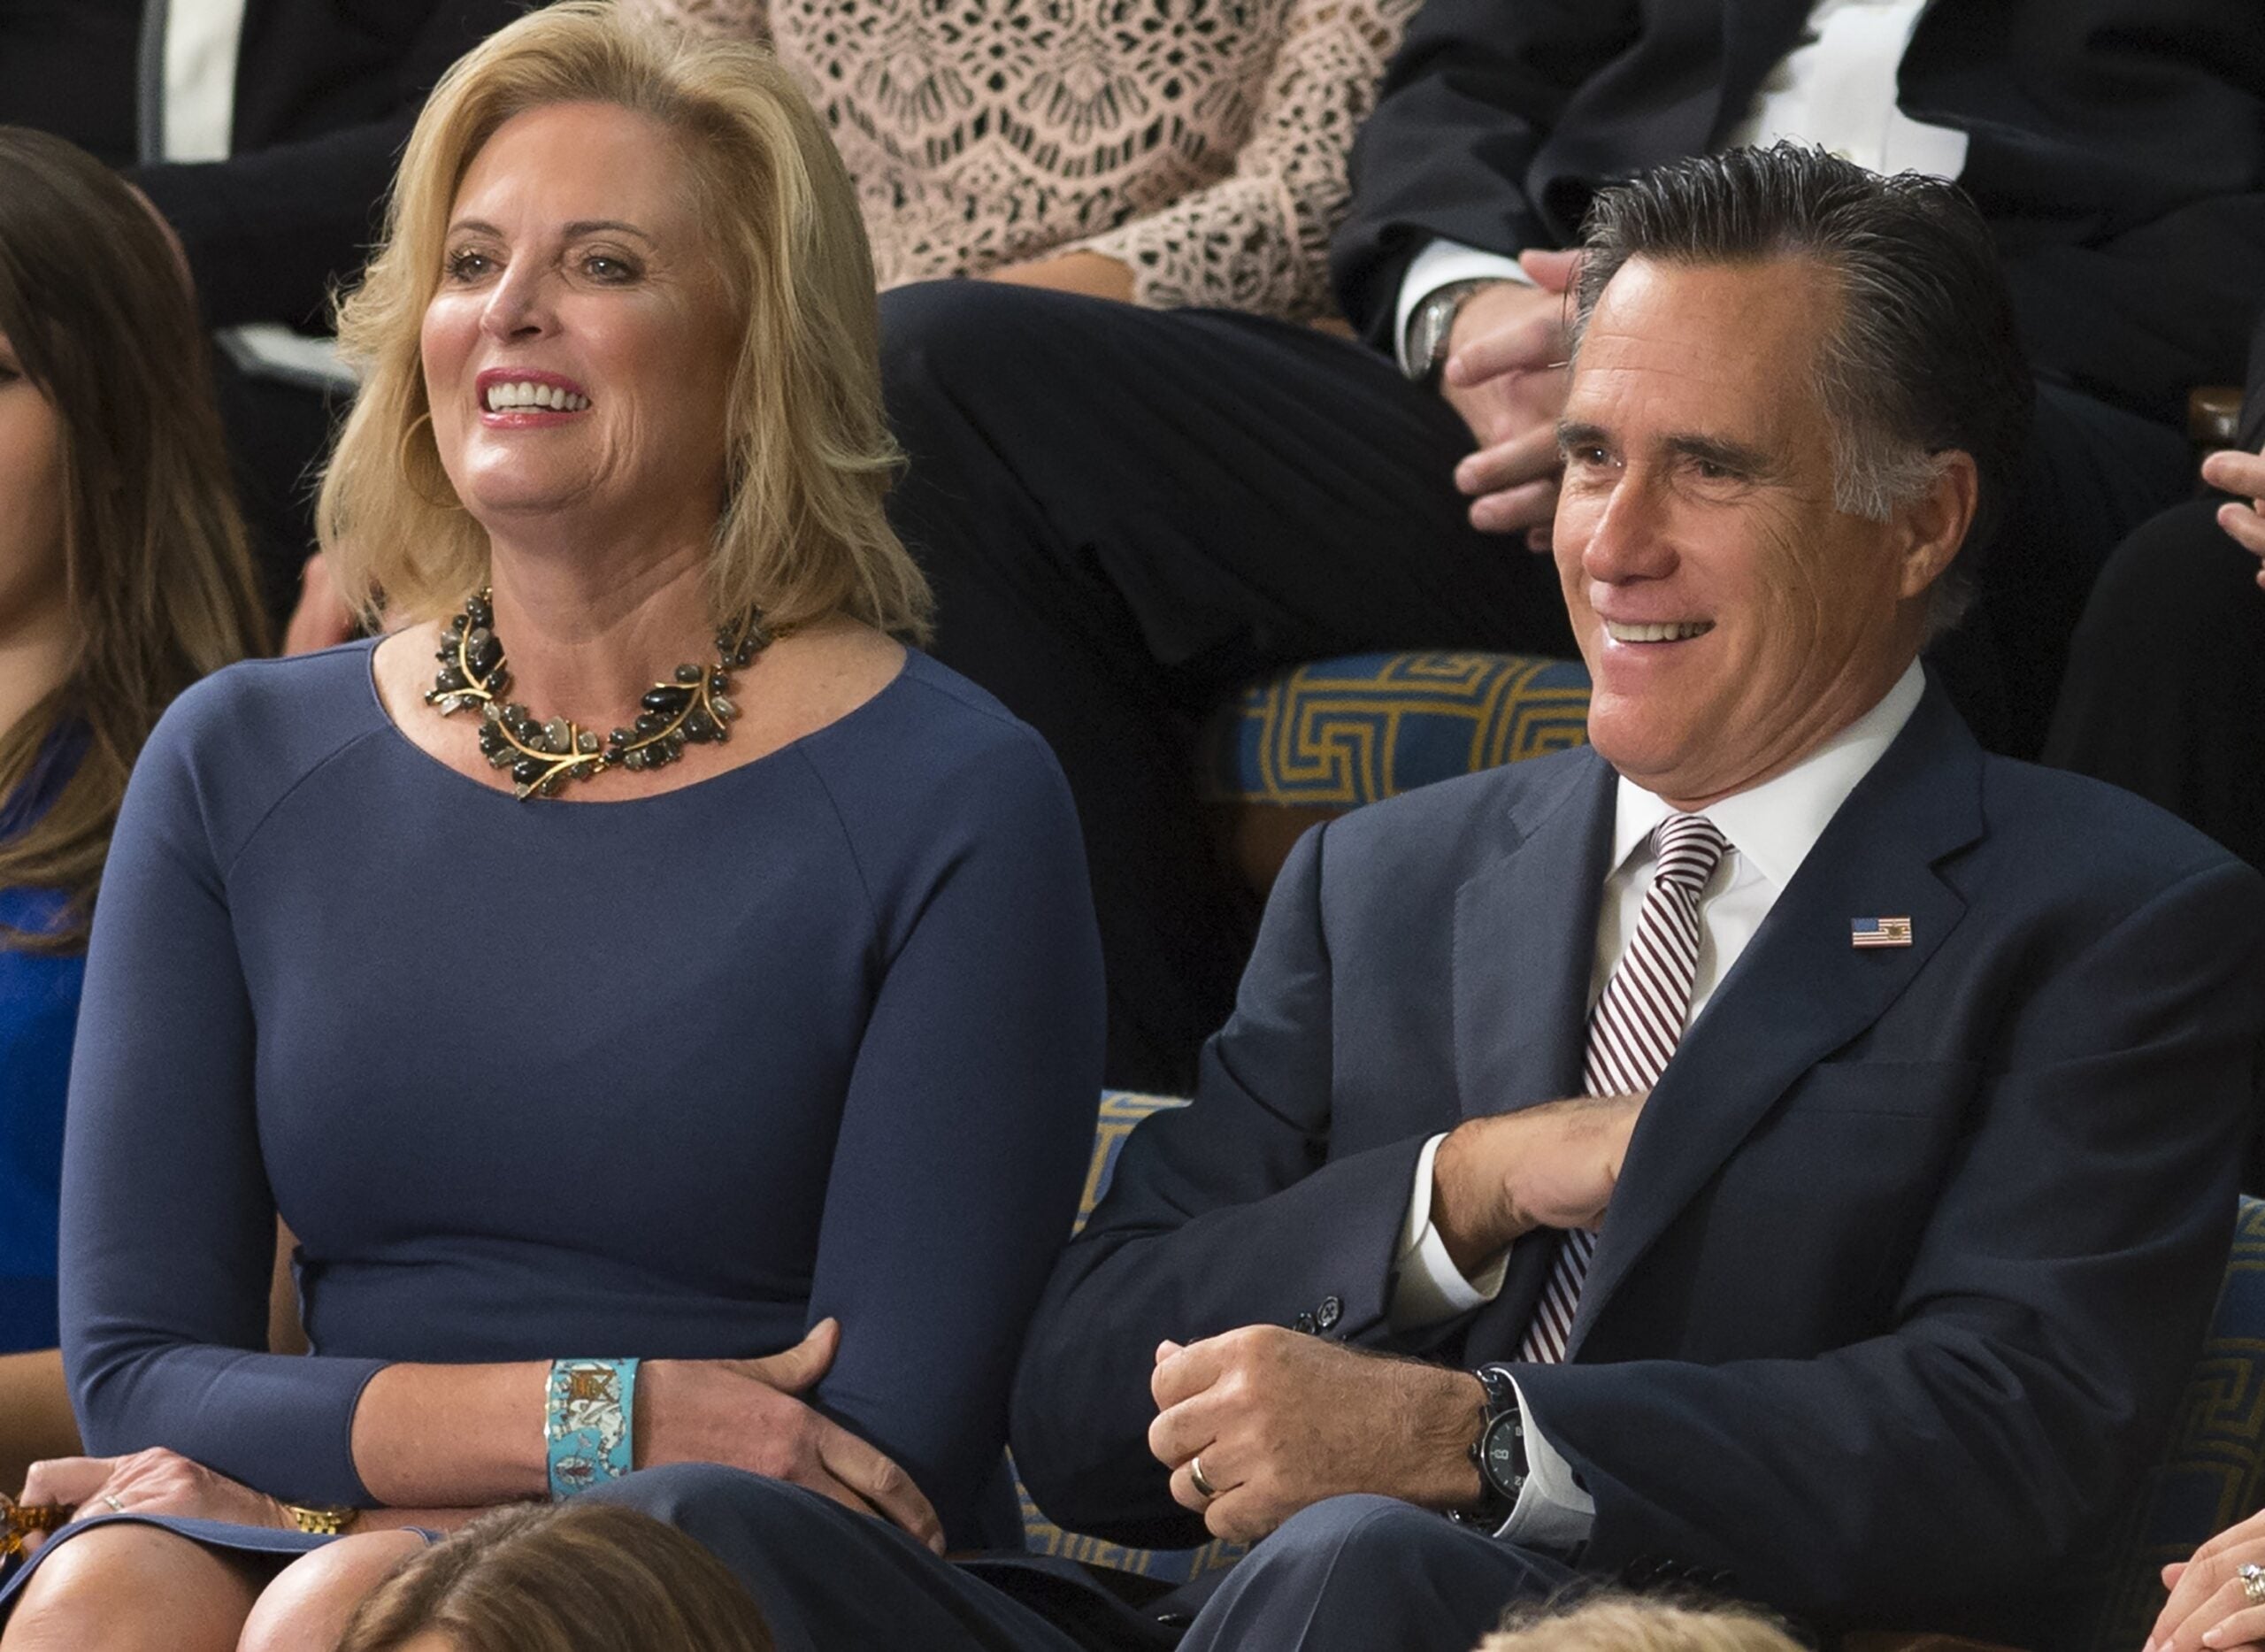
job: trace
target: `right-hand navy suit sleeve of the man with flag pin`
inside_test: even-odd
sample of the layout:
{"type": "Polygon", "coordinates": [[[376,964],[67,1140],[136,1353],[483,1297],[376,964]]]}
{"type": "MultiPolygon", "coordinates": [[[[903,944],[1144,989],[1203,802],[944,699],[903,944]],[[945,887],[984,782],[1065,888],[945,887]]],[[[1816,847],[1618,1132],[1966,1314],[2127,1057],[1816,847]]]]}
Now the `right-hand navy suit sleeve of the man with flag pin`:
{"type": "Polygon", "coordinates": [[[1719,1566],[1826,1623],[1948,1620],[2082,1573],[2208,1323],[2260,1002],[2265,884],[2195,872],[2011,1011],[1887,1335],[1520,1366],[1597,1500],[1586,1564],[1719,1566]]]}

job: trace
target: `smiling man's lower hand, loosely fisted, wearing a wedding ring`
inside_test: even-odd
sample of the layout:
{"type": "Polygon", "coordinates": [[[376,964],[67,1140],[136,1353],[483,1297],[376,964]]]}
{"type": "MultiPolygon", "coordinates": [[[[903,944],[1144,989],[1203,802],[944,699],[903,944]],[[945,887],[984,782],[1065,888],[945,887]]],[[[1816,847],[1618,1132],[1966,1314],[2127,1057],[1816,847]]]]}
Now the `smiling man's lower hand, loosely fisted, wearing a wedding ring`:
{"type": "Polygon", "coordinates": [[[1280,1326],[1166,1342],[1148,1378],[1148,1450],[1212,1536],[1253,1543],[1350,1491],[1429,1509],[1479,1500],[1470,1441],[1486,1391],[1465,1371],[1361,1353],[1280,1326]],[[1216,1496],[1196,1491],[1189,1462],[1216,1496]]]}

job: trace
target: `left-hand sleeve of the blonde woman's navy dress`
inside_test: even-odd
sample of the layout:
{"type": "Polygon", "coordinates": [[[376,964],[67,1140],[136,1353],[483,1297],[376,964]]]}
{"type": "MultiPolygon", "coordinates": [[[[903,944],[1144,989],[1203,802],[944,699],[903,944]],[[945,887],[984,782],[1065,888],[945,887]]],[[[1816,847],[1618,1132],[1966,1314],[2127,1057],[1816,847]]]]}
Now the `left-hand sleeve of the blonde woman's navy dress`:
{"type": "Polygon", "coordinates": [[[256,1029],[199,727],[159,723],[111,838],[63,1129],[63,1362],[86,1448],[168,1446],[290,1502],[369,1502],[353,1405],[378,1360],[267,1353],[274,1197],[256,1029]]]}

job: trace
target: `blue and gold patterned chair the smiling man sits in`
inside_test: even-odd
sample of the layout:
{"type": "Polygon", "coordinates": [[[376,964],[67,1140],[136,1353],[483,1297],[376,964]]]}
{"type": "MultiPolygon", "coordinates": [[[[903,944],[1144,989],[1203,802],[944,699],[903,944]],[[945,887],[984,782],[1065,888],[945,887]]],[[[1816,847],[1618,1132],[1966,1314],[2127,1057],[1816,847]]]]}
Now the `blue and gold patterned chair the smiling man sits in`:
{"type": "MultiPolygon", "coordinates": [[[[1085,1176],[1078,1226],[1108,1192],[1126,1138],[1148,1115],[1187,1106],[1173,1097],[1110,1090],[1101,1097],[1094,1160],[1085,1176]]],[[[1024,1545],[1037,1555],[1067,1555],[1094,1566],[1187,1582],[1234,1564],[1243,1548],[1205,1543],[1189,1550],[1146,1550],[1065,1532],[1049,1521],[1017,1480],[1024,1545]]],[[[2093,1652],[2131,1652],[2147,1638],[2163,1607],[2161,1568],[2265,1505],[2265,1201],[2242,1199],[2233,1260],[2211,1321],[2211,1337],[2195,1362],[2170,1450],[2138,1498],[2118,1536],[2093,1618],[2093,1652]]],[[[1975,1643],[1943,1636],[1862,1636],[1864,1652],[1952,1652],[1975,1643]]]]}

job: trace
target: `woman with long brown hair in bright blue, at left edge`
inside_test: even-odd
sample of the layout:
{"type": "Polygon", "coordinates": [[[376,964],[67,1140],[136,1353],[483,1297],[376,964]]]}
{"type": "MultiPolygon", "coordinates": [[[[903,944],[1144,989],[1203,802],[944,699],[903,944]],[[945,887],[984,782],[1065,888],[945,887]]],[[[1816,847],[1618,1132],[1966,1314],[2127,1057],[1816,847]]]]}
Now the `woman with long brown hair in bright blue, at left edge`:
{"type": "Polygon", "coordinates": [[[195,301],[109,168],[0,127],[0,1491],[77,1448],[57,1353],[86,931],[159,712],[260,644],[195,301]]]}

